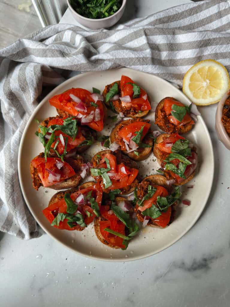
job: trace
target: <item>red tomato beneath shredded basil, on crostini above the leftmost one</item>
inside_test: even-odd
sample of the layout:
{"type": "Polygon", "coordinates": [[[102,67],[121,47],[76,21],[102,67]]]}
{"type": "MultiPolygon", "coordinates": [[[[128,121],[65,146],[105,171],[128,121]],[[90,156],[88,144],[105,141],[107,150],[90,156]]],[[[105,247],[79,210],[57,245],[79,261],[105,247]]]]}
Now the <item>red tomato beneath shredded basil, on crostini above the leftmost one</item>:
{"type": "MultiPolygon", "coordinates": [[[[55,119],[51,119],[49,122],[48,122],[48,125],[47,127],[49,126],[52,126],[52,125],[60,125],[62,126],[63,125],[63,122],[64,122],[64,119],[59,119],[59,118],[55,118],[55,119]]],[[[70,150],[74,149],[75,147],[77,147],[78,145],[80,145],[86,138],[82,135],[82,132],[81,132],[81,127],[78,127],[78,133],[73,141],[73,138],[71,138],[69,135],[63,133],[61,130],[56,130],[54,132],[54,134],[56,136],[59,136],[60,134],[62,134],[63,138],[64,138],[64,142],[65,142],[65,138],[68,138],[68,143],[67,143],[67,147],[66,147],[66,151],[69,152],[70,150]]],[[[47,133],[49,135],[51,135],[51,133],[47,133]]],[[[56,144],[57,140],[55,140],[51,147],[53,148],[56,144]]],[[[65,148],[65,145],[62,144],[62,142],[60,142],[59,140],[59,143],[56,147],[56,150],[58,151],[59,154],[63,154],[64,153],[64,148],[65,148]]]]}

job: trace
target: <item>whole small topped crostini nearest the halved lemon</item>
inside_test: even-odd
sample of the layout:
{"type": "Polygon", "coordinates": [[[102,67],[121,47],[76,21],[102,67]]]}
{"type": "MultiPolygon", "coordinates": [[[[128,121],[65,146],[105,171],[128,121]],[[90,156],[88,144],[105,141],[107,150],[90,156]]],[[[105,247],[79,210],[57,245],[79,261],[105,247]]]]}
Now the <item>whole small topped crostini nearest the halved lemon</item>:
{"type": "Polygon", "coordinates": [[[173,97],[165,97],[156,107],[155,125],[166,133],[187,133],[194,125],[190,106],[185,106],[173,97]]]}

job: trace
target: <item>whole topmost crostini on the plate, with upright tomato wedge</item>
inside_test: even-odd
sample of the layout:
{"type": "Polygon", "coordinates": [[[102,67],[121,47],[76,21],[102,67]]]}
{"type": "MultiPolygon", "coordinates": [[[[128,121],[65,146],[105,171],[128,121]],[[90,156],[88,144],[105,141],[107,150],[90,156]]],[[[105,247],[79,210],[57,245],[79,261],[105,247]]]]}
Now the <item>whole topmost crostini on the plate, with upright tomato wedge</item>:
{"type": "Polygon", "coordinates": [[[127,76],[106,85],[102,95],[112,111],[125,117],[144,117],[151,110],[150,99],[146,91],[127,76]]]}

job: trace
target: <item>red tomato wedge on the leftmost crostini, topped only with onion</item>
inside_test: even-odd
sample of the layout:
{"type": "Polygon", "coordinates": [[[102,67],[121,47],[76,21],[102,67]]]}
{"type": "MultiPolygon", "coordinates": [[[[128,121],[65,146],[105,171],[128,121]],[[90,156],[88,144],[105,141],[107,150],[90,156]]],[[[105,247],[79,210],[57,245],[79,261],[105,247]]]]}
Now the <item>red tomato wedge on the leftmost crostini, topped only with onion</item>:
{"type": "Polygon", "coordinates": [[[59,158],[47,158],[46,162],[45,158],[36,158],[33,159],[31,163],[37,169],[38,175],[45,188],[76,174],[67,162],[62,162],[59,158]],[[56,165],[57,162],[64,163],[60,169],[58,169],[56,165]]]}

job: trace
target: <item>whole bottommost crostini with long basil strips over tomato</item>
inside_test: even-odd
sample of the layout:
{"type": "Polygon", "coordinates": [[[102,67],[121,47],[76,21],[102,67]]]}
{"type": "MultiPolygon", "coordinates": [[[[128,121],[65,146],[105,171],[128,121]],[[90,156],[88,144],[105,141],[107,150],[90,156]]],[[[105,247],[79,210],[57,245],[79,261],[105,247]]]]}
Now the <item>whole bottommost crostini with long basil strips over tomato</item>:
{"type": "Polygon", "coordinates": [[[100,217],[94,219],[94,230],[98,239],[112,248],[126,249],[128,242],[139,231],[133,224],[130,213],[133,208],[124,197],[107,200],[100,208],[100,217]]]}

